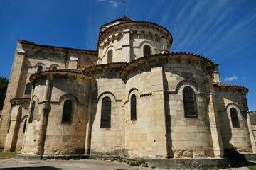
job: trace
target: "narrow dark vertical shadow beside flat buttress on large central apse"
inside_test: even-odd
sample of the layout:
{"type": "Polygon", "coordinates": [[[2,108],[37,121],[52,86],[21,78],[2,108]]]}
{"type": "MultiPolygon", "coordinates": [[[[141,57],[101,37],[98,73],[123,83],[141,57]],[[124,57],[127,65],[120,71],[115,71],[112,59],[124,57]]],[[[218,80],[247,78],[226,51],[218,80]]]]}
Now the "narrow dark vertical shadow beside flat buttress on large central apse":
{"type": "Polygon", "coordinates": [[[168,81],[166,74],[163,71],[164,79],[164,112],[165,112],[165,127],[166,127],[166,151],[167,157],[174,157],[174,152],[172,151],[172,140],[171,140],[171,114],[170,114],[170,104],[169,104],[169,94],[168,94],[168,81]]]}

